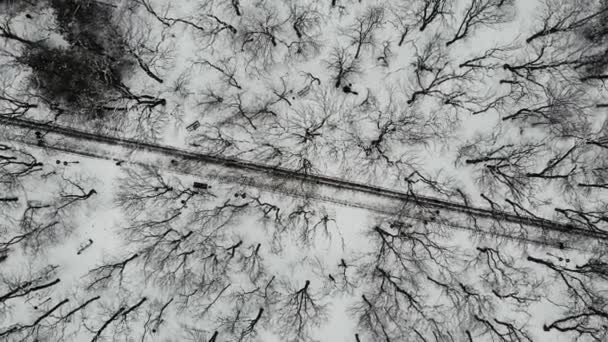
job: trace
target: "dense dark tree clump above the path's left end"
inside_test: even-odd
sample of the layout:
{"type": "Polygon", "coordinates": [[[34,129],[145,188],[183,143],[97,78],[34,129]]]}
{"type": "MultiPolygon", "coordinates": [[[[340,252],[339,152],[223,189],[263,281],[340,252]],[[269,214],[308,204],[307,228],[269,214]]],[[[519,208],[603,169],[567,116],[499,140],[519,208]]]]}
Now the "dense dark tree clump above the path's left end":
{"type": "Polygon", "coordinates": [[[170,56],[162,35],[153,37],[135,26],[138,21],[128,8],[118,16],[117,5],[101,1],[2,6],[6,14],[1,36],[8,43],[3,58],[13,66],[3,72],[3,99],[13,109],[5,115],[43,106],[54,120],[101,121],[108,128],[129,127],[139,136],[157,135],[158,123],[170,111],[167,100],[134,89],[128,79],[139,68],[163,83],[158,70],[170,56]],[[19,32],[19,26],[36,29],[19,32]]]}

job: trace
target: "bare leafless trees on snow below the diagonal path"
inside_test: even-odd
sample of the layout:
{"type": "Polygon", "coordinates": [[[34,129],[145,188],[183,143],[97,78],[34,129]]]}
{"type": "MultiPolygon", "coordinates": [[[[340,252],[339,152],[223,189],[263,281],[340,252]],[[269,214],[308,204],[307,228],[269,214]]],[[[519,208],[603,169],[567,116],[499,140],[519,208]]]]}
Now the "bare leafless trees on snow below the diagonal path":
{"type": "MultiPolygon", "coordinates": [[[[81,193],[62,193],[52,210],[95,198],[95,190],[68,183],[81,193]]],[[[532,341],[541,331],[564,340],[607,337],[599,250],[524,248],[482,236],[462,244],[470,235],[454,230],[448,215],[412,203],[347,228],[310,200],[286,205],[250,188],[197,189],[153,167],[124,168],[113,198],[126,217],[117,232],[126,248],[96,259],[67,288],[62,276],[70,277],[57,265],[7,272],[0,298],[14,323],[3,337],[256,341],[271,332],[313,341],[323,340],[319,329],[335,315],[352,320],[354,341],[532,341]],[[299,265],[276,268],[276,258],[299,265]],[[559,309],[531,317],[547,302],[559,309]],[[30,319],[14,320],[16,303],[29,307],[30,319]]],[[[18,218],[23,231],[31,210],[18,218]]],[[[11,244],[4,267],[70,234],[53,228],[52,241],[48,234],[4,240],[11,244]]]]}

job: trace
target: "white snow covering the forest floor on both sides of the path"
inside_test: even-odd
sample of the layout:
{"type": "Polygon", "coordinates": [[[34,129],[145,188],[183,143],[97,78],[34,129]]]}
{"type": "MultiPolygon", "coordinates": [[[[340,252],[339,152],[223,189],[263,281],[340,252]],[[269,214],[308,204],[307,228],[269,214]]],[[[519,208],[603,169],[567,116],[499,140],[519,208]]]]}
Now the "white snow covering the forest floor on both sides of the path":
{"type": "MultiPolygon", "coordinates": [[[[445,42],[470,1],[448,1],[451,14],[424,31],[414,15],[424,1],[335,2],[105,1],[112,6],[111,25],[163,80],[135,68],[125,75],[126,86],[165,105],[144,111],[126,101],[127,111],[106,117],[57,115],[37,97],[32,70],[14,62],[24,47],[11,40],[2,42],[0,96],[36,103],[24,118],[81,130],[457,202],[463,201],[460,190],[477,206],[489,205],[484,194],[505,210],[513,209],[507,202],[513,200],[541,217],[563,219],[555,208],[576,208],[605,218],[606,189],[540,178],[513,189],[488,177],[485,164],[465,162],[501,146],[532,146],[521,165],[506,166],[519,179],[522,170],[540,172],[577,145],[576,157],[556,174],[583,165],[573,169],[572,184],[603,181],[608,149],[587,144],[606,137],[605,108],[596,108],[605,97],[601,85],[569,84],[573,71],[566,68],[555,72],[563,77],[535,79],[574,94],[580,111],[557,120],[585,127],[587,136],[556,134],[559,125],[504,120],[554,94],[528,84],[531,90],[514,100],[513,88],[500,81],[517,77],[503,64],[525,63],[541,50],[551,58],[580,58],[583,43],[573,37],[544,48],[540,41],[526,43],[541,27],[544,1],[513,1],[504,23],[480,25],[449,47],[445,42]],[[336,87],[332,54],[343,49],[354,59],[349,35],[373,9],[382,11],[373,44],[362,46],[358,71],[336,87]],[[303,38],[293,27],[301,12],[308,15],[303,38]],[[260,31],[265,27],[273,27],[276,45],[260,31]],[[214,28],[222,29],[211,35],[214,28]],[[306,39],[315,45],[300,45],[306,39]],[[495,66],[460,66],[492,48],[503,49],[484,60],[495,66]],[[424,51],[433,66],[419,81],[416,62],[424,51]],[[433,72],[460,76],[408,103],[433,72]],[[346,84],[356,94],[346,93],[346,84]],[[186,130],[194,121],[200,127],[186,130]]],[[[593,3],[564,2],[583,9],[593,3]]],[[[19,4],[0,1],[6,10],[0,17],[12,18],[10,27],[22,37],[67,46],[45,3],[17,11],[19,4]]],[[[594,297],[528,259],[566,270],[605,267],[594,263],[603,260],[602,243],[582,239],[579,246],[588,248],[567,250],[529,244],[455,229],[450,214],[411,204],[380,214],[204,177],[221,170],[178,172],[128,159],[118,165],[22,144],[10,133],[3,128],[0,137],[0,147],[7,147],[0,149],[0,171],[23,166],[3,164],[13,156],[42,164],[6,182],[0,177],[0,197],[19,198],[0,201],[0,246],[8,246],[0,262],[0,341],[559,342],[608,336],[601,315],[570,323],[603,329],[603,335],[547,329],[587,312],[583,304],[590,298],[605,298],[605,271],[599,272],[604,278],[574,275],[584,283],[574,281],[574,288],[599,294],[594,297]],[[2,159],[5,152],[10,158],[2,159]],[[194,182],[211,188],[196,189],[194,182]]]]}

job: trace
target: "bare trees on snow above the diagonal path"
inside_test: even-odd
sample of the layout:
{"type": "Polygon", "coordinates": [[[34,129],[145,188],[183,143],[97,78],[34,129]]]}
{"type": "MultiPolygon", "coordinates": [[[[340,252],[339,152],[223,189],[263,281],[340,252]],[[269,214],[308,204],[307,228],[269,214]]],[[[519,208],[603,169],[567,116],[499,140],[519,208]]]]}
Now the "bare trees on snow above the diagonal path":
{"type": "MultiPolygon", "coordinates": [[[[412,168],[419,159],[419,147],[451,144],[451,133],[463,115],[498,111],[504,125],[513,124],[507,127],[546,129],[549,134],[542,142],[546,146],[564,136],[602,139],[602,133],[590,127],[594,116],[587,114],[603,105],[598,100],[601,90],[592,90],[602,80],[604,10],[599,3],[554,10],[559,7],[556,1],[541,2],[541,26],[534,28],[523,47],[492,47],[464,60],[455,54],[459,51],[456,43],[465,44],[477,32],[515,20],[514,1],[309,5],[209,2],[192,5],[188,14],[147,0],[5,5],[11,8],[2,26],[2,36],[10,46],[5,50],[7,61],[20,70],[30,70],[25,75],[27,89],[18,88],[23,72],[5,74],[7,82],[17,81],[5,89],[5,112],[38,113],[44,104],[59,117],[71,113],[68,121],[92,115],[101,118],[103,125],[129,127],[134,130],[130,134],[140,137],[158,137],[171,120],[183,122],[186,119],[180,116],[184,114],[188,120],[192,117],[182,110],[196,108],[212,114],[205,116],[205,123],[190,141],[204,152],[305,172],[348,173],[362,176],[360,180],[373,179],[377,173],[368,170],[377,166],[394,170],[397,176],[392,178],[402,186],[402,176],[419,171],[412,168]],[[324,19],[346,14],[349,18],[336,28],[336,44],[322,39],[324,19]],[[42,24],[45,30],[39,32],[59,37],[19,30],[28,20],[42,18],[45,21],[41,22],[52,24],[42,24]],[[171,53],[179,43],[177,35],[202,46],[193,51],[194,58],[181,63],[185,67],[178,67],[177,57],[171,53]],[[411,64],[396,60],[407,55],[404,44],[411,51],[411,64]],[[517,54],[525,50],[531,58],[517,54]],[[309,60],[319,61],[327,77],[316,70],[298,69],[309,60]],[[368,77],[364,70],[372,64],[376,74],[384,74],[390,81],[387,87],[361,83],[368,77]],[[295,66],[295,71],[273,74],[272,69],[281,65],[295,66]],[[204,75],[209,82],[193,85],[194,74],[204,75]],[[409,84],[397,83],[404,76],[409,84]],[[252,87],[253,78],[262,79],[263,86],[252,87]],[[496,84],[493,93],[485,91],[486,84],[496,84]],[[380,113],[387,110],[397,113],[397,121],[420,117],[412,125],[416,130],[409,124],[393,127],[393,120],[383,122],[381,118],[394,115],[380,113]],[[340,114],[344,112],[349,112],[348,118],[340,114]],[[374,128],[359,122],[370,113],[378,118],[371,123],[374,128]],[[171,115],[174,118],[169,120],[171,115]],[[368,133],[373,130],[377,133],[368,133]],[[393,134],[408,138],[390,139],[393,134]],[[345,153],[355,150],[359,152],[345,153]],[[354,170],[352,165],[361,164],[371,166],[354,170]]],[[[574,144],[579,143],[570,145],[574,144]]],[[[602,144],[588,145],[569,157],[603,153],[602,144]],[[594,151],[587,153],[590,149],[594,151]]],[[[529,154],[538,161],[559,159],[562,153],[552,152],[530,150],[529,154]]],[[[587,159],[581,157],[577,162],[587,159]]],[[[557,166],[561,164],[553,168],[557,166]]],[[[504,176],[490,174],[498,182],[504,176]]],[[[589,182],[588,174],[582,177],[585,180],[579,183],[602,184],[589,182]]],[[[480,179],[487,183],[487,177],[480,179]]],[[[520,192],[511,189],[513,186],[517,187],[506,185],[509,192],[520,192]]]]}

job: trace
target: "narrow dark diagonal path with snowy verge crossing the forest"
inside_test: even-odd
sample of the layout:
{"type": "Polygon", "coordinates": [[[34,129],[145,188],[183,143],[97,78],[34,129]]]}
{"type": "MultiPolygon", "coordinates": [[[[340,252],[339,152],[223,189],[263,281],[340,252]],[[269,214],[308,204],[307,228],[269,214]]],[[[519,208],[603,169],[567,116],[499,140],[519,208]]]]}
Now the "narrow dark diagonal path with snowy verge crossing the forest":
{"type": "MultiPolygon", "coordinates": [[[[4,136],[31,144],[43,145],[46,148],[62,150],[69,153],[110,160],[129,160],[138,153],[138,163],[153,164],[159,167],[178,170],[190,175],[205,175],[229,179],[236,183],[263,188],[290,196],[314,198],[322,201],[372,210],[384,214],[396,213],[404,203],[431,210],[464,214],[474,219],[513,224],[521,230],[523,227],[534,228],[532,240],[543,240],[548,234],[577,236],[586,239],[608,241],[608,232],[595,231],[571,224],[543,219],[536,216],[513,214],[505,211],[479,208],[444,199],[413,195],[387,188],[351,182],[344,179],[304,174],[294,170],[263,165],[244,160],[224,158],[178,149],[171,146],[125,139],[109,135],[85,132],[82,130],[58,126],[29,119],[0,116],[0,129],[4,136]],[[35,132],[41,132],[39,139],[35,132]],[[160,159],[159,159],[160,158],[160,159]],[[201,165],[204,165],[201,168],[201,165]],[[323,191],[323,189],[333,191],[323,191]],[[371,196],[371,197],[370,197],[371,196]],[[370,197],[373,200],[365,199],[370,197]],[[395,205],[395,203],[398,203],[395,205]]],[[[486,222],[487,223],[487,222],[486,222]]],[[[467,228],[467,220],[460,228],[467,228]]],[[[477,224],[475,224],[477,226],[477,224]]],[[[475,230],[475,229],[473,229],[475,230]]],[[[528,240],[521,233],[492,232],[485,233],[528,240]]]]}

